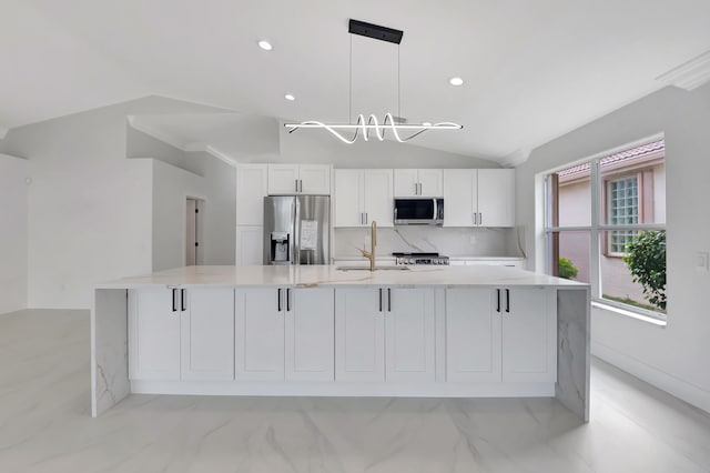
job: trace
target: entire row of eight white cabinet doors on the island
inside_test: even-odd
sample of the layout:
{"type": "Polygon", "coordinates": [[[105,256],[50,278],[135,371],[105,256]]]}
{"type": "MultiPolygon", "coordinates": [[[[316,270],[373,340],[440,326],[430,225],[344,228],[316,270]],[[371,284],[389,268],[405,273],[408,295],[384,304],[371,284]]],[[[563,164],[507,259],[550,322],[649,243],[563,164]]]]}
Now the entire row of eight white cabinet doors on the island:
{"type": "Polygon", "coordinates": [[[557,380],[556,290],[444,292],[437,301],[422,286],[131,290],[129,378],[395,389],[557,380]]]}

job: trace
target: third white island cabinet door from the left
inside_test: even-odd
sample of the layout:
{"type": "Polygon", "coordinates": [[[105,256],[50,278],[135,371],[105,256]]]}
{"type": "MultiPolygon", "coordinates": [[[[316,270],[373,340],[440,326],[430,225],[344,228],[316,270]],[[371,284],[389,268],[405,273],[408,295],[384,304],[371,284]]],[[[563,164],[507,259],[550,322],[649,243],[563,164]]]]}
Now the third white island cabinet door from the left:
{"type": "Polygon", "coordinates": [[[284,379],[283,289],[234,291],[234,373],[237,381],[284,379]]]}

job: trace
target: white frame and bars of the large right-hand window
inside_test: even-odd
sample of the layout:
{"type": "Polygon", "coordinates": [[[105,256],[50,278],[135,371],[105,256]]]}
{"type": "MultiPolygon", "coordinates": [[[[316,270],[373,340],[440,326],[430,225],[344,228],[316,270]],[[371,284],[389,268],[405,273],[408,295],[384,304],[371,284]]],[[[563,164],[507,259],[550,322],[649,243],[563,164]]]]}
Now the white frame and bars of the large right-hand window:
{"type": "MultiPolygon", "coordinates": [[[[608,248],[610,248],[608,238],[605,239],[602,236],[604,232],[607,232],[610,235],[611,231],[615,230],[635,230],[635,231],[665,231],[667,232],[666,223],[637,223],[637,224],[623,224],[623,225],[612,225],[608,223],[607,212],[608,212],[608,200],[607,200],[607,182],[610,180],[620,180],[623,177],[632,177],[637,175],[638,178],[638,204],[642,205],[641,201],[648,198],[646,191],[641,189],[643,181],[646,181],[649,175],[651,177],[652,182],[652,173],[648,171],[652,170],[655,164],[632,168],[630,170],[623,170],[622,172],[601,172],[600,162],[604,158],[609,155],[628,151],[638,147],[642,147],[645,144],[652,143],[655,141],[665,140],[663,133],[658,133],[656,135],[638,140],[636,142],[631,142],[621,147],[617,147],[611,150],[607,150],[591,157],[574,161],[567,163],[562,167],[550,169],[546,172],[540,173],[544,185],[544,208],[542,208],[542,231],[545,235],[545,261],[546,261],[546,270],[548,274],[557,275],[557,264],[559,254],[555,254],[554,248],[555,244],[559,242],[559,234],[562,232],[580,232],[588,231],[589,232],[589,241],[590,241],[590,254],[589,254],[589,280],[591,286],[591,301],[597,306],[608,306],[611,310],[616,309],[618,312],[623,313],[632,312],[642,318],[650,318],[656,321],[666,322],[667,315],[662,312],[657,312],[648,309],[638,308],[630,304],[625,304],[622,302],[612,301],[609,299],[602,298],[602,281],[601,281],[601,258],[602,256],[616,256],[615,254],[609,254],[607,252],[608,248]],[[557,175],[556,173],[576,165],[589,164],[589,182],[590,182],[590,202],[591,202],[591,224],[590,225],[576,225],[576,227],[559,227],[558,215],[554,215],[554,202],[552,198],[557,199],[557,192],[555,190],[555,195],[552,195],[552,189],[550,185],[550,178],[552,175],[557,175]]],[[[663,151],[663,162],[666,161],[666,152],[663,151]]],[[[556,183],[558,185],[558,183],[556,183]]],[[[652,193],[652,187],[651,187],[652,193]]],[[[645,202],[646,203],[646,202],[645,202]]],[[[650,210],[652,212],[652,205],[650,205],[650,210]]],[[[642,210],[639,209],[639,220],[641,219],[642,210]]],[[[653,218],[650,217],[652,220],[653,218]]],[[[626,254],[622,254],[623,256],[626,254]]]]}

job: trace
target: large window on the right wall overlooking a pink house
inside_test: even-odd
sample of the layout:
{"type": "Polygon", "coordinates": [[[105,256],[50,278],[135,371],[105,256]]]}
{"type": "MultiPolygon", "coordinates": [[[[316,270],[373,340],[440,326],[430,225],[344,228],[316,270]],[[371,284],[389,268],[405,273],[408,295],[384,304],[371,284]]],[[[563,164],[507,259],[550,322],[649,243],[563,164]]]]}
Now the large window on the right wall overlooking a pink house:
{"type": "Polygon", "coordinates": [[[545,182],[548,272],[588,282],[597,302],[663,319],[665,301],[632,273],[629,253],[645,232],[666,231],[662,137],[552,171],[545,182]]]}

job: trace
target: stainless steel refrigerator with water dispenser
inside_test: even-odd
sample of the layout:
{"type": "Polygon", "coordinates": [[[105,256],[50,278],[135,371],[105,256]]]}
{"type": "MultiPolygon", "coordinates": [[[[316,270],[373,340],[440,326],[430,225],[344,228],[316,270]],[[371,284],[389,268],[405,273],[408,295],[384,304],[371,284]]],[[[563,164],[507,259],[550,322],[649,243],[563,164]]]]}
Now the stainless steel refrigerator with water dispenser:
{"type": "Polygon", "coordinates": [[[264,264],[331,264],[331,198],[264,198],[264,264]]]}

